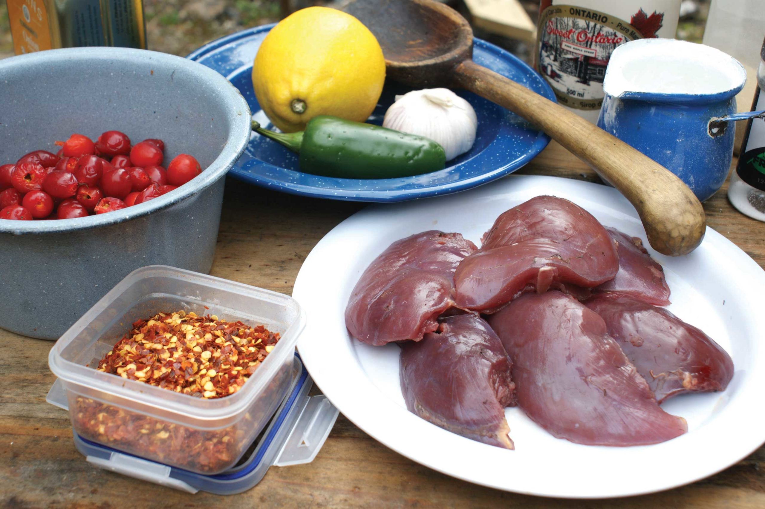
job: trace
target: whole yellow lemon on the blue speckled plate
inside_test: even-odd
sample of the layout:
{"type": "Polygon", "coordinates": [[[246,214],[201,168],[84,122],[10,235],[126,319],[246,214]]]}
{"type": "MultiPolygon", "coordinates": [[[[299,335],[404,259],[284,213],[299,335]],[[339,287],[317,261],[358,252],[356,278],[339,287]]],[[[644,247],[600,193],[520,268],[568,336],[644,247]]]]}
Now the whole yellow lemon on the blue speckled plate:
{"type": "Polygon", "coordinates": [[[342,11],[309,7],[265,36],[252,86],[271,122],[302,131],[317,115],[364,122],[385,81],[385,59],[372,32],[342,11]]]}

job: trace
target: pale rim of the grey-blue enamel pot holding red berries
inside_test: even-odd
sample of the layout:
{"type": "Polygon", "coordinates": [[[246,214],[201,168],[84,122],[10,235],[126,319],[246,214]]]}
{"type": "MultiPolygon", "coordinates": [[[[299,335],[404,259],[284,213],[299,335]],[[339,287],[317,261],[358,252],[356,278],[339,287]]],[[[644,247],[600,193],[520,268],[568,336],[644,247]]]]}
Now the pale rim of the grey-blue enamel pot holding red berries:
{"type": "Polygon", "coordinates": [[[207,66],[183,57],[150,50],[136,50],[123,47],[73,47],[57,50],[45,50],[37,53],[26,53],[16,57],[0,60],[0,75],[15,66],[41,66],[45,68],[50,63],[60,60],[122,60],[125,63],[137,64],[151,60],[168,67],[182,67],[198,76],[200,81],[212,83],[217,88],[220,99],[229,105],[229,137],[218,157],[210,163],[194,180],[179,186],[170,193],[158,196],[145,203],[126,207],[106,214],[97,214],[73,219],[56,219],[50,221],[18,221],[0,219],[0,234],[11,235],[47,234],[74,232],[116,225],[121,222],[146,216],[151,212],[167,209],[180,203],[189,196],[211,186],[223,177],[239,156],[245,151],[251,134],[249,105],[246,99],[228,79],[207,66]]]}

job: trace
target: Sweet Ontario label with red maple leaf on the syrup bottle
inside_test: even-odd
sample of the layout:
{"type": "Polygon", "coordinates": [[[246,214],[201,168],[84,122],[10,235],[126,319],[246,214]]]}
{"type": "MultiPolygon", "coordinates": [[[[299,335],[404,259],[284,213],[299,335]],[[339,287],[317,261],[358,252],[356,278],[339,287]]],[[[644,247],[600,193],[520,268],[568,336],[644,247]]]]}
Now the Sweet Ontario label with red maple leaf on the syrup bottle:
{"type": "Polygon", "coordinates": [[[656,37],[663,20],[663,12],[649,15],[642,8],[628,23],[594,9],[549,5],[539,15],[537,70],[562,105],[597,111],[611,53],[628,41],[656,37]]]}

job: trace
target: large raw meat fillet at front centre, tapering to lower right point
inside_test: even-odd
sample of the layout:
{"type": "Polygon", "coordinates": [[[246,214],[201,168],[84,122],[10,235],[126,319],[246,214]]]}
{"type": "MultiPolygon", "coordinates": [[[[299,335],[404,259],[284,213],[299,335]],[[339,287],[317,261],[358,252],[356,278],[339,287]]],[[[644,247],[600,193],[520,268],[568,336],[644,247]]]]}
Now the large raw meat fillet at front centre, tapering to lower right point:
{"type": "Polygon", "coordinates": [[[685,419],[659,408],[603,319],[572,297],[526,293],[489,323],[513,359],[519,407],[554,436],[640,446],[688,430],[685,419]]]}

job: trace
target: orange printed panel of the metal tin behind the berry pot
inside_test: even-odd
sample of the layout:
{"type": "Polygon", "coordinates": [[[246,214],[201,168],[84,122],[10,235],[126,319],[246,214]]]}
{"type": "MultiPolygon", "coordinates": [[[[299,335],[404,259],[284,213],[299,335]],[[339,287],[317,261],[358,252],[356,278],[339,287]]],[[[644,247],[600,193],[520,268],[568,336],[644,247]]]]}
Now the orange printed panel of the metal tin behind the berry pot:
{"type": "Polygon", "coordinates": [[[13,48],[17,55],[50,50],[50,25],[43,0],[7,0],[13,48]]]}

